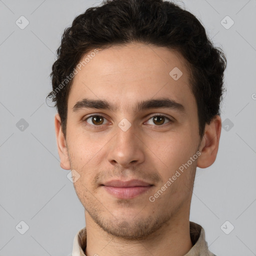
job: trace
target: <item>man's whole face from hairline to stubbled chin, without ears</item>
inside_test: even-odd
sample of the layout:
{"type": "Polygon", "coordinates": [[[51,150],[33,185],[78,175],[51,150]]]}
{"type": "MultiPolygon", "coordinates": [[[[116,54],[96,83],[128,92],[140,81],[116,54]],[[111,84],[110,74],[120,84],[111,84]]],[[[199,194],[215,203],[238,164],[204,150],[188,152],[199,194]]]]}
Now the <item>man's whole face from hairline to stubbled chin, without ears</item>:
{"type": "Polygon", "coordinates": [[[85,217],[110,234],[144,237],[189,215],[201,141],[184,61],[164,47],[126,44],[100,50],[75,74],[61,166],[78,173],[85,217]],[[145,183],[107,185],[115,179],[145,183]]]}

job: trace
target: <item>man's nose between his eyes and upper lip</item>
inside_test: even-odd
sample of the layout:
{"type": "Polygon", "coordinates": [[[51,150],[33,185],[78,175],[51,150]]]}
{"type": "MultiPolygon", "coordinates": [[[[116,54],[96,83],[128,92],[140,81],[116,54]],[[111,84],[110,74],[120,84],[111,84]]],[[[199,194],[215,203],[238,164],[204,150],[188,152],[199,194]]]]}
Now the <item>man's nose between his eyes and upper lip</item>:
{"type": "Polygon", "coordinates": [[[126,131],[116,128],[117,134],[111,140],[107,160],[111,164],[131,167],[144,161],[144,144],[131,125],[126,131]]]}

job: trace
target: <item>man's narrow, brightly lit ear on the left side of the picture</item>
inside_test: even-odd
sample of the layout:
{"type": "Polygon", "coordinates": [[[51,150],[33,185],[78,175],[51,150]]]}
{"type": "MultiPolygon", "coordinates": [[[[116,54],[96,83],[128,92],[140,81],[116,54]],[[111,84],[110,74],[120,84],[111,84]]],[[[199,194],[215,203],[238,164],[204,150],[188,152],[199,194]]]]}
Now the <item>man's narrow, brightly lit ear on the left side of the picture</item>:
{"type": "Polygon", "coordinates": [[[67,148],[66,148],[66,140],[64,138],[64,134],[62,132],[61,128],[61,120],[58,113],[55,114],[55,133],[56,133],[56,139],[57,139],[57,148],[58,148],[58,155],[60,158],[60,167],[65,170],[71,169],[68,154],[67,154],[67,148]]]}

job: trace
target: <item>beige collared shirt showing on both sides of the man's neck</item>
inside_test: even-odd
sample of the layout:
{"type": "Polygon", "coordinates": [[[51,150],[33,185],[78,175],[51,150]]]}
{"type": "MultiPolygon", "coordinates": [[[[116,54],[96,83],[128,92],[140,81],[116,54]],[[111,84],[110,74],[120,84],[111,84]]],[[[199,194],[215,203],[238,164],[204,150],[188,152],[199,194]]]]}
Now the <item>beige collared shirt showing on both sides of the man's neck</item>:
{"type": "MultiPolygon", "coordinates": [[[[189,221],[189,232],[192,248],[184,256],[216,256],[208,250],[204,229],[197,223],[189,221]]],[[[86,256],[86,227],[80,229],[74,236],[71,256],[86,256]]]]}

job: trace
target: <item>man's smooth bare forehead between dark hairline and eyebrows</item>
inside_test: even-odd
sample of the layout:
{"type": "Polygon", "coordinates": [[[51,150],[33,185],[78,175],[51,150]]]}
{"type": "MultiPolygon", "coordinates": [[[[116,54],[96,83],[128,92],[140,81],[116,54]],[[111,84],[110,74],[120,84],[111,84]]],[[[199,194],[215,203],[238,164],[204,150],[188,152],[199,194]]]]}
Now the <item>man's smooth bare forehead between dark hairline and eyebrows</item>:
{"type": "Polygon", "coordinates": [[[88,52],[81,61],[86,57],[89,61],[76,68],[68,97],[70,109],[83,97],[105,99],[120,109],[134,109],[138,100],[154,97],[195,104],[186,62],[178,51],[130,43],[88,52]]]}

